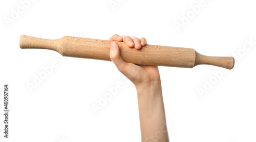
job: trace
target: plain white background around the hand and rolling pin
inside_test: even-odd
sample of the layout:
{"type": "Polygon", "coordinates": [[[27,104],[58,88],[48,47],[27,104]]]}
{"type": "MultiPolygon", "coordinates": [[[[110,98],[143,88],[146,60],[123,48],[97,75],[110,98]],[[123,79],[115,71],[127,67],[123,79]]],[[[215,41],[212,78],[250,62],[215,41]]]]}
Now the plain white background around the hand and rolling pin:
{"type": "Polygon", "coordinates": [[[20,35],[107,40],[114,34],[145,37],[148,44],[194,48],[205,55],[236,53],[236,64],[228,72],[208,65],[159,67],[169,138],[256,141],[256,44],[246,42],[256,41],[254,1],[205,0],[197,13],[191,7],[199,6],[199,0],[36,0],[26,8],[20,3],[24,1],[0,4],[1,114],[3,85],[10,87],[9,138],[2,133],[0,115],[0,141],[140,141],[135,87],[112,62],[19,48],[20,35]],[[12,18],[13,11],[18,16],[12,18]],[[182,24],[182,15],[187,14],[189,21],[177,29],[175,23],[182,24]],[[12,20],[7,22],[8,18],[12,20]],[[30,91],[27,84],[52,62],[57,67],[30,91]],[[118,82],[123,88],[96,114],[92,104],[118,82]],[[201,95],[199,88],[205,90],[201,95]]]}

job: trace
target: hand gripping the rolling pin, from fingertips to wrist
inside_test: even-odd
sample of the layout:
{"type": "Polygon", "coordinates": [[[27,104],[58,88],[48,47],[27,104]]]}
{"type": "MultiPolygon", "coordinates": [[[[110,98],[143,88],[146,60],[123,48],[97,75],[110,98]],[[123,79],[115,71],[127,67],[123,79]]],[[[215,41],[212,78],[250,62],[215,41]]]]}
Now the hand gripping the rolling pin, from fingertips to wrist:
{"type": "MultiPolygon", "coordinates": [[[[128,47],[135,49],[143,48],[147,43],[145,38],[139,39],[137,37],[119,36],[117,34],[113,35],[109,40],[123,41],[128,47]]],[[[117,69],[135,84],[136,88],[160,83],[160,75],[157,66],[138,66],[123,61],[120,56],[119,46],[115,42],[111,43],[110,59],[116,65],[117,69]]]]}

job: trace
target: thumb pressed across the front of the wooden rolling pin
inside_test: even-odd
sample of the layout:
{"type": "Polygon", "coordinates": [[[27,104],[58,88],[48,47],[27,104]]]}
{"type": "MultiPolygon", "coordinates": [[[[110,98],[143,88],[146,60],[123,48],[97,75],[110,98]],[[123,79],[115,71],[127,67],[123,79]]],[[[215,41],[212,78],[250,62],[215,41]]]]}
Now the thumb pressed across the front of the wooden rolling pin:
{"type": "Polygon", "coordinates": [[[127,66],[127,63],[123,61],[123,59],[120,56],[120,49],[118,47],[118,44],[115,42],[111,43],[110,47],[110,59],[111,61],[116,65],[117,69],[123,73],[125,71],[125,68],[127,66]]]}

